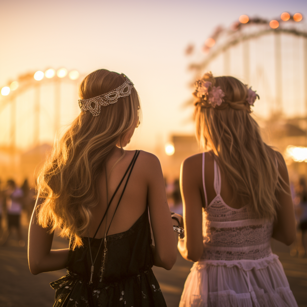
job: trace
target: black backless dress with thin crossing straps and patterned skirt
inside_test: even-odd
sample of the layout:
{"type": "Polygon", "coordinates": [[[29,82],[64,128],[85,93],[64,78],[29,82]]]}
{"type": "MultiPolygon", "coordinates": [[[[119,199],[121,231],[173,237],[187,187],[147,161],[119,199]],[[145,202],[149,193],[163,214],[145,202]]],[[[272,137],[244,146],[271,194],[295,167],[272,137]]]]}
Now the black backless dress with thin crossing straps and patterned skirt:
{"type": "MultiPolygon", "coordinates": [[[[131,167],[126,184],[138,153],[139,151],[136,151],[127,169],[128,172],[131,167]]],[[[107,261],[102,278],[100,278],[100,267],[103,248],[99,250],[101,239],[95,239],[95,235],[93,239],[90,238],[93,258],[99,250],[94,265],[92,284],[89,284],[91,257],[88,238],[82,238],[82,240],[83,247],[76,248],[74,251],[69,250],[66,265],[68,274],[50,284],[56,290],[54,307],[166,307],[160,286],[151,269],[153,257],[148,208],[129,230],[107,235],[107,261]]]]}

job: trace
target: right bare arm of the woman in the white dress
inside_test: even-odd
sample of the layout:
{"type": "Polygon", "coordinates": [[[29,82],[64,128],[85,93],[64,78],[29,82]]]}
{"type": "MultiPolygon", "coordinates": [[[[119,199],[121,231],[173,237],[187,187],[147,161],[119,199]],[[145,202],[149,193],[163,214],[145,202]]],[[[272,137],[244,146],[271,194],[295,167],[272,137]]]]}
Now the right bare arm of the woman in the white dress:
{"type": "Polygon", "coordinates": [[[286,245],[290,245],[296,237],[296,221],[287,166],[281,155],[280,157],[282,162],[278,164],[278,171],[285,181],[280,181],[280,184],[286,192],[279,191],[277,194],[279,208],[277,210],[276,221],[274,222],[272,237],[286,245]]]}

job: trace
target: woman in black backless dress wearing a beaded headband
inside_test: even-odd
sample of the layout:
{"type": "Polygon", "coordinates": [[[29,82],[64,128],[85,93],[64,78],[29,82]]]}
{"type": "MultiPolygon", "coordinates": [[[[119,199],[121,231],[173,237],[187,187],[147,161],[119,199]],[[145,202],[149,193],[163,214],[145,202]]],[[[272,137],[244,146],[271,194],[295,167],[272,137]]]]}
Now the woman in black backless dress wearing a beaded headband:
{"type": "Polygon", "coordinates": [[[82,112],[38,177],[30,270],[67,268],[51,283],[56,307],[166,307],[151,268],[176,262],[173,230],[183,231],[182,217],[171,218],[157,157],[123,149],[140,123],[137,91],[124,74],[99,69],[79,94],[82,112]],[[68,249],[51,250],[56,228],[68,249]]]}

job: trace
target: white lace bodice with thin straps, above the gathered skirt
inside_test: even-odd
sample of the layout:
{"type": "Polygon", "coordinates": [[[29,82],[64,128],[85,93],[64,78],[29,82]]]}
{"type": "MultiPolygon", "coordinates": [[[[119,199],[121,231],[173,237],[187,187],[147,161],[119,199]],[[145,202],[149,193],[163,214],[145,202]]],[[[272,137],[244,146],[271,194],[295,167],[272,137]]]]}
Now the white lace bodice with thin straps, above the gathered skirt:
{"type": "Polygon", "coordinates": [[[257,260],[272,255],[270,238],[273,223],[265,219],[256,219],[248,205],[234,209],[229,207],[220,196],[221,175],[214,161],[214,189],[216,197],[203,208],[204,252],[201,260],[257,260]]]}

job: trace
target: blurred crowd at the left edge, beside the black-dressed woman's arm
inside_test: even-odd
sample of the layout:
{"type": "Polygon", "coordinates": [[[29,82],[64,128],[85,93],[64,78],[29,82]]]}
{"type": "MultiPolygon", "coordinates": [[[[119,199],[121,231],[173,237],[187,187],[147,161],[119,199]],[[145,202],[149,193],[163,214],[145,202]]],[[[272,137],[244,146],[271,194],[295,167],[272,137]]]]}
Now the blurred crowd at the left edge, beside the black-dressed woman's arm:
{"type": "Polygon", "coordinates": [[[6,245],[10,239],[17,238],[18,245],[25,246],[21,216],[28,224],[34,206],[35,188],[30,188],[27,179],[21,187],[12,179],[4,187],[0,185],[0,245],[6,245]]]}

